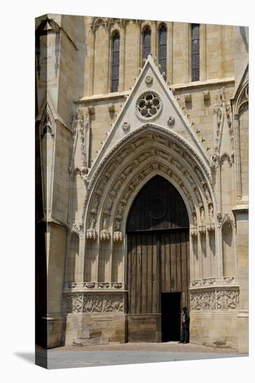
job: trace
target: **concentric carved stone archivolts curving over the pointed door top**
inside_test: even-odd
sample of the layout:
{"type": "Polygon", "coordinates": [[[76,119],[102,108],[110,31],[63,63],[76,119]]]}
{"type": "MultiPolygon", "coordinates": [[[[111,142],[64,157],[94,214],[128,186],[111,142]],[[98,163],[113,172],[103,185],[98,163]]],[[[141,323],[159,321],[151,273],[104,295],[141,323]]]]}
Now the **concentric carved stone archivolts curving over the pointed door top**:
{"type": "MultiPolygon", "coordinates": [[[[105,161],[106,159],[103,162],[105,161]]],[[[102,164],[99,168],[101,166],[102,164]]],[[[137,137],[132,139],[128,146],[125,146],[121,151],[116,150],[115,155],[111,155],[109,162],[105,164],[105,168],[101,168],[101,177],[93,187],[95,176],[98,173],[96,171],[94,178],[88,185],[88,192],[92,195],[87,210],[86,227],[91,228],[93,219],[95,219],[95,223],[98,221],[100,211],[102,211],[102,221],[105,217],[111,217],[114,203],[119,198],[121,188],[126,184],[127,187],[122,192],[117,206],[113,228],[114,232],[122,233],[123,216],[130,196],[142,180],[153,171],[166,174],[178,185],[178,189],[182,190],[185,196],[186,203],[190,205],[190,212],[196,211],[195,205],[202,206],[206,202],[203,215],[205,217],[204,221],[207,221],[208,206],[214,198],[212,198],[201,169],[199,169],[190,153],[183,150],[180,144],[177,144],[172,139],[167,139],[159,132],[152,132],[148,128],[146,132],[142,130],[137,137]],[[150,162],[148,162],[149,160],[150,162]],[[126,163],[124,168],[123,162],[126,163]],[[141,167],[143,163],[145,166],[141,167]],[[167,166],[167,164],[169,165],[167,166]],[[118,169],[121,169],[120,173],[118,173],[118,169]],[[139,173],[132,175],[137,169],[139,169],[139,173]],[[187,169],[192,169],[192,172],[190,173],[187,169]],[[189,186],[187,187],[187,185],[189,186]],[[192,198],[195,198],[195,200],[193,201],[192,198]],[[117,229],[116,226],[120,228],[117,229]]],[[[195,221],[191,222],[191,224],[197,225],[195,221]]],[[[121,238],[122,236],[119,234],[114,235],[114,240],[121,240],[121,238]]]]}

